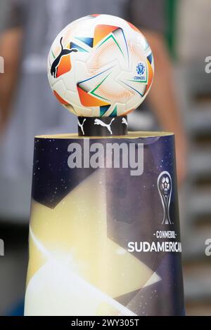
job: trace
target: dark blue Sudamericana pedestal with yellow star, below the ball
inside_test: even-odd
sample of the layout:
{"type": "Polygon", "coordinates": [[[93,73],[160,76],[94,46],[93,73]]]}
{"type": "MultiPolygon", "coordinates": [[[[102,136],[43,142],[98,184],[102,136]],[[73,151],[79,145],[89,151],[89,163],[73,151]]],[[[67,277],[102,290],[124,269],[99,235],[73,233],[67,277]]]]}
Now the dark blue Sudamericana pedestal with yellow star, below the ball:
{"type": "Polygon", "coordinates": [[[25,315],[184,315],[172,133],[35,138],[25,315]]]}

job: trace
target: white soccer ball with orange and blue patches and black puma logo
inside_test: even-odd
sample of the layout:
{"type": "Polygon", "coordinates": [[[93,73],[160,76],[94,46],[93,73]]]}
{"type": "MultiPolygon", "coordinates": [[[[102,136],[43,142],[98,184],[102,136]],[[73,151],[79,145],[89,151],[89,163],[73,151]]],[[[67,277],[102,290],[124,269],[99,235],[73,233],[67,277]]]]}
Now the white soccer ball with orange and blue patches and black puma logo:
{"type": "Polygon", "coordinates": [[[111,15],[75,20],[58,34],[48,58],[54,95],[79,117],[125,116],[151,88],[153,54],[131,23],[111,15]]]}

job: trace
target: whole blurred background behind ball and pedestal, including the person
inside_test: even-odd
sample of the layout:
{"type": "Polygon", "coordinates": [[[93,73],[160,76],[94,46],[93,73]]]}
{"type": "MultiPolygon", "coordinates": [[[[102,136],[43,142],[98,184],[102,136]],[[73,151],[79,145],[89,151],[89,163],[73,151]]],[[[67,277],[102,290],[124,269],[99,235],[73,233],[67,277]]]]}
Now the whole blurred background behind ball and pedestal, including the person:
{"type": "Polygon", "coordinates": [[[77,130],[51,95],[46,56],[60,29],[89,13],[130,20],[151,44],[154,86],[129,125],[176,134],[186,314],[211,315],[210,0],[0,0],[0,315],[23,312],[34,135],[77,130]]]}

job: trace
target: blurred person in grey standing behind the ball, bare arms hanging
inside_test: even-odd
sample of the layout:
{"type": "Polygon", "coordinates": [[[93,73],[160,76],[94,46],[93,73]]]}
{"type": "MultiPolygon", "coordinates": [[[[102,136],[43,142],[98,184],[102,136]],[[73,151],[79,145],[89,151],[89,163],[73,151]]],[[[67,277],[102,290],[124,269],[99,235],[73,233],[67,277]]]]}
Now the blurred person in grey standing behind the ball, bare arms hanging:
{"type": "MultiPolygon", "coordinates": [[[[0,39],[5,60],[5,74],[0,75],[0,180],[4,181],[0,210],[8,199],[8,209],[18,199],[21,216],[29,216],[34,136],[77,131],[77,118],[61,110],[51,93],[46,58],[58,32],[90,13],[126,18],[146,35],[155,58],[155,79],[147,100],[162,129],[176,135],[177,175],[179,183],[184,180],[186,139],[165,45],[165,0],[11,0],[0,39]]],[[[13,213],[18,216],[15,209],[13,213]]]]}

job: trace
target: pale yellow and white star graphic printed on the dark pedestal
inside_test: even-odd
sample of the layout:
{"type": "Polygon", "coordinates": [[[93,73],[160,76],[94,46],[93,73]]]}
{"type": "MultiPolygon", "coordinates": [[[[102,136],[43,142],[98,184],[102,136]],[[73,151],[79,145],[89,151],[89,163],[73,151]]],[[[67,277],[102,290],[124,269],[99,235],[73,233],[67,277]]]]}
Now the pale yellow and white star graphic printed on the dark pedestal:
{"type": "Polygon", "coordinates": [[[134,315],[115,297],[158,280],[108,238],[101,170],[54,209],[32,202],[25,315],[134,315]]]}

